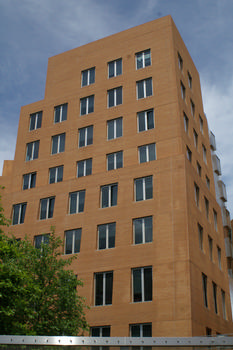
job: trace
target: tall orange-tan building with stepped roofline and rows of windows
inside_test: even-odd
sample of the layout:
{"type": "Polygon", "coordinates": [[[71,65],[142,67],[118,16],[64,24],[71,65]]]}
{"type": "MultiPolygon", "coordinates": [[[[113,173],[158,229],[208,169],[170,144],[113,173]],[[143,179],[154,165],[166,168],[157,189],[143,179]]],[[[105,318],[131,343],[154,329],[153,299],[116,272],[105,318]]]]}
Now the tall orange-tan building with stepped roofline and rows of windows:
{"type": "Polygon", "coordinates": [[[92,335],[232,332],[214,150],[170,16],[49,59],[44,99],[22,107],[4,163],[3,206],[17,238],[39,247],[55,226],[64,256],[78,255],[92,335]]]}

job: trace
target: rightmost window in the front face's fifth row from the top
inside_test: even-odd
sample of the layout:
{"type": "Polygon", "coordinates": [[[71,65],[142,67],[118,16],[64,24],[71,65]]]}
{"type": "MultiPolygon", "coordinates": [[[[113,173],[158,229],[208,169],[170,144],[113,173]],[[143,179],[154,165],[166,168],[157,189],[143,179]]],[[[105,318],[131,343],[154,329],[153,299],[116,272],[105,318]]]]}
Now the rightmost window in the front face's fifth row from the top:
{"type": "Polygon", "coordinates": [[[134,190],[136,202],[153,198],[153,176],[134,180],[134,190]]]}

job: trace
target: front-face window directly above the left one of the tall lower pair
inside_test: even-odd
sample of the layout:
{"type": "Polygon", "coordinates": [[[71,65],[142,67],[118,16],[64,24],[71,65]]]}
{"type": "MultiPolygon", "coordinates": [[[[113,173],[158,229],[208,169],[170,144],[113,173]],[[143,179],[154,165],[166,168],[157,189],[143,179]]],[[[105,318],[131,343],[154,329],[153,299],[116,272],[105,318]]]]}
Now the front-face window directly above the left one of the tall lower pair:
{"type": "Polygon", "coordinates": [[[98,249],[110,249],[115,247],[116,223],[98,226],[98,249]]]}

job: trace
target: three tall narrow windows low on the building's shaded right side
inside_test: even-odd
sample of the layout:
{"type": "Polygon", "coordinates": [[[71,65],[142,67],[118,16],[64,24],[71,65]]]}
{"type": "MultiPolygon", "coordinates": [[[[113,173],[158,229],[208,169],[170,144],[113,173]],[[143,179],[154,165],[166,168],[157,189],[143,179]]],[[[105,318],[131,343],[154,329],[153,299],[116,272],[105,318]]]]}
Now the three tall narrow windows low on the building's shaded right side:
{"type": "MultiPolygon", "coordinates": [[[[207,293],[207,276],[202,273],[202,287],[203,287],[203,299],[204,299],[204,305],[206,308],[208,308],[208,293],[207,293]]],[[[212,292],[213,292],[213,302],[214,302],[214,311],[216,314],[219,313],[218,310],[218,293],[217,293],[218,287],[215,282],[212,281],[212,292]]],[[[227,313],[226,313],[226,295],[224,290],[221,289],[221,299],[222,299],[222,315],[223,318],[227,319],[227,313]]]]}

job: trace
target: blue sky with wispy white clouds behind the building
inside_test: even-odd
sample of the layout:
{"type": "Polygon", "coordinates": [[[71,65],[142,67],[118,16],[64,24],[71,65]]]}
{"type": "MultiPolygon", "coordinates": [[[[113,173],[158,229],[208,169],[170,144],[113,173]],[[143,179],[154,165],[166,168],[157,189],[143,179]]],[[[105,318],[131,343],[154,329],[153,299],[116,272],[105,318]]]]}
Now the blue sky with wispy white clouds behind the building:
{"type": "Polygon", "coordinates": [[[200,74],[233,217],[232,0],[0,0],[0,175],[21,106],[44,98],[49,57],[166,15],[200,74]]]}

